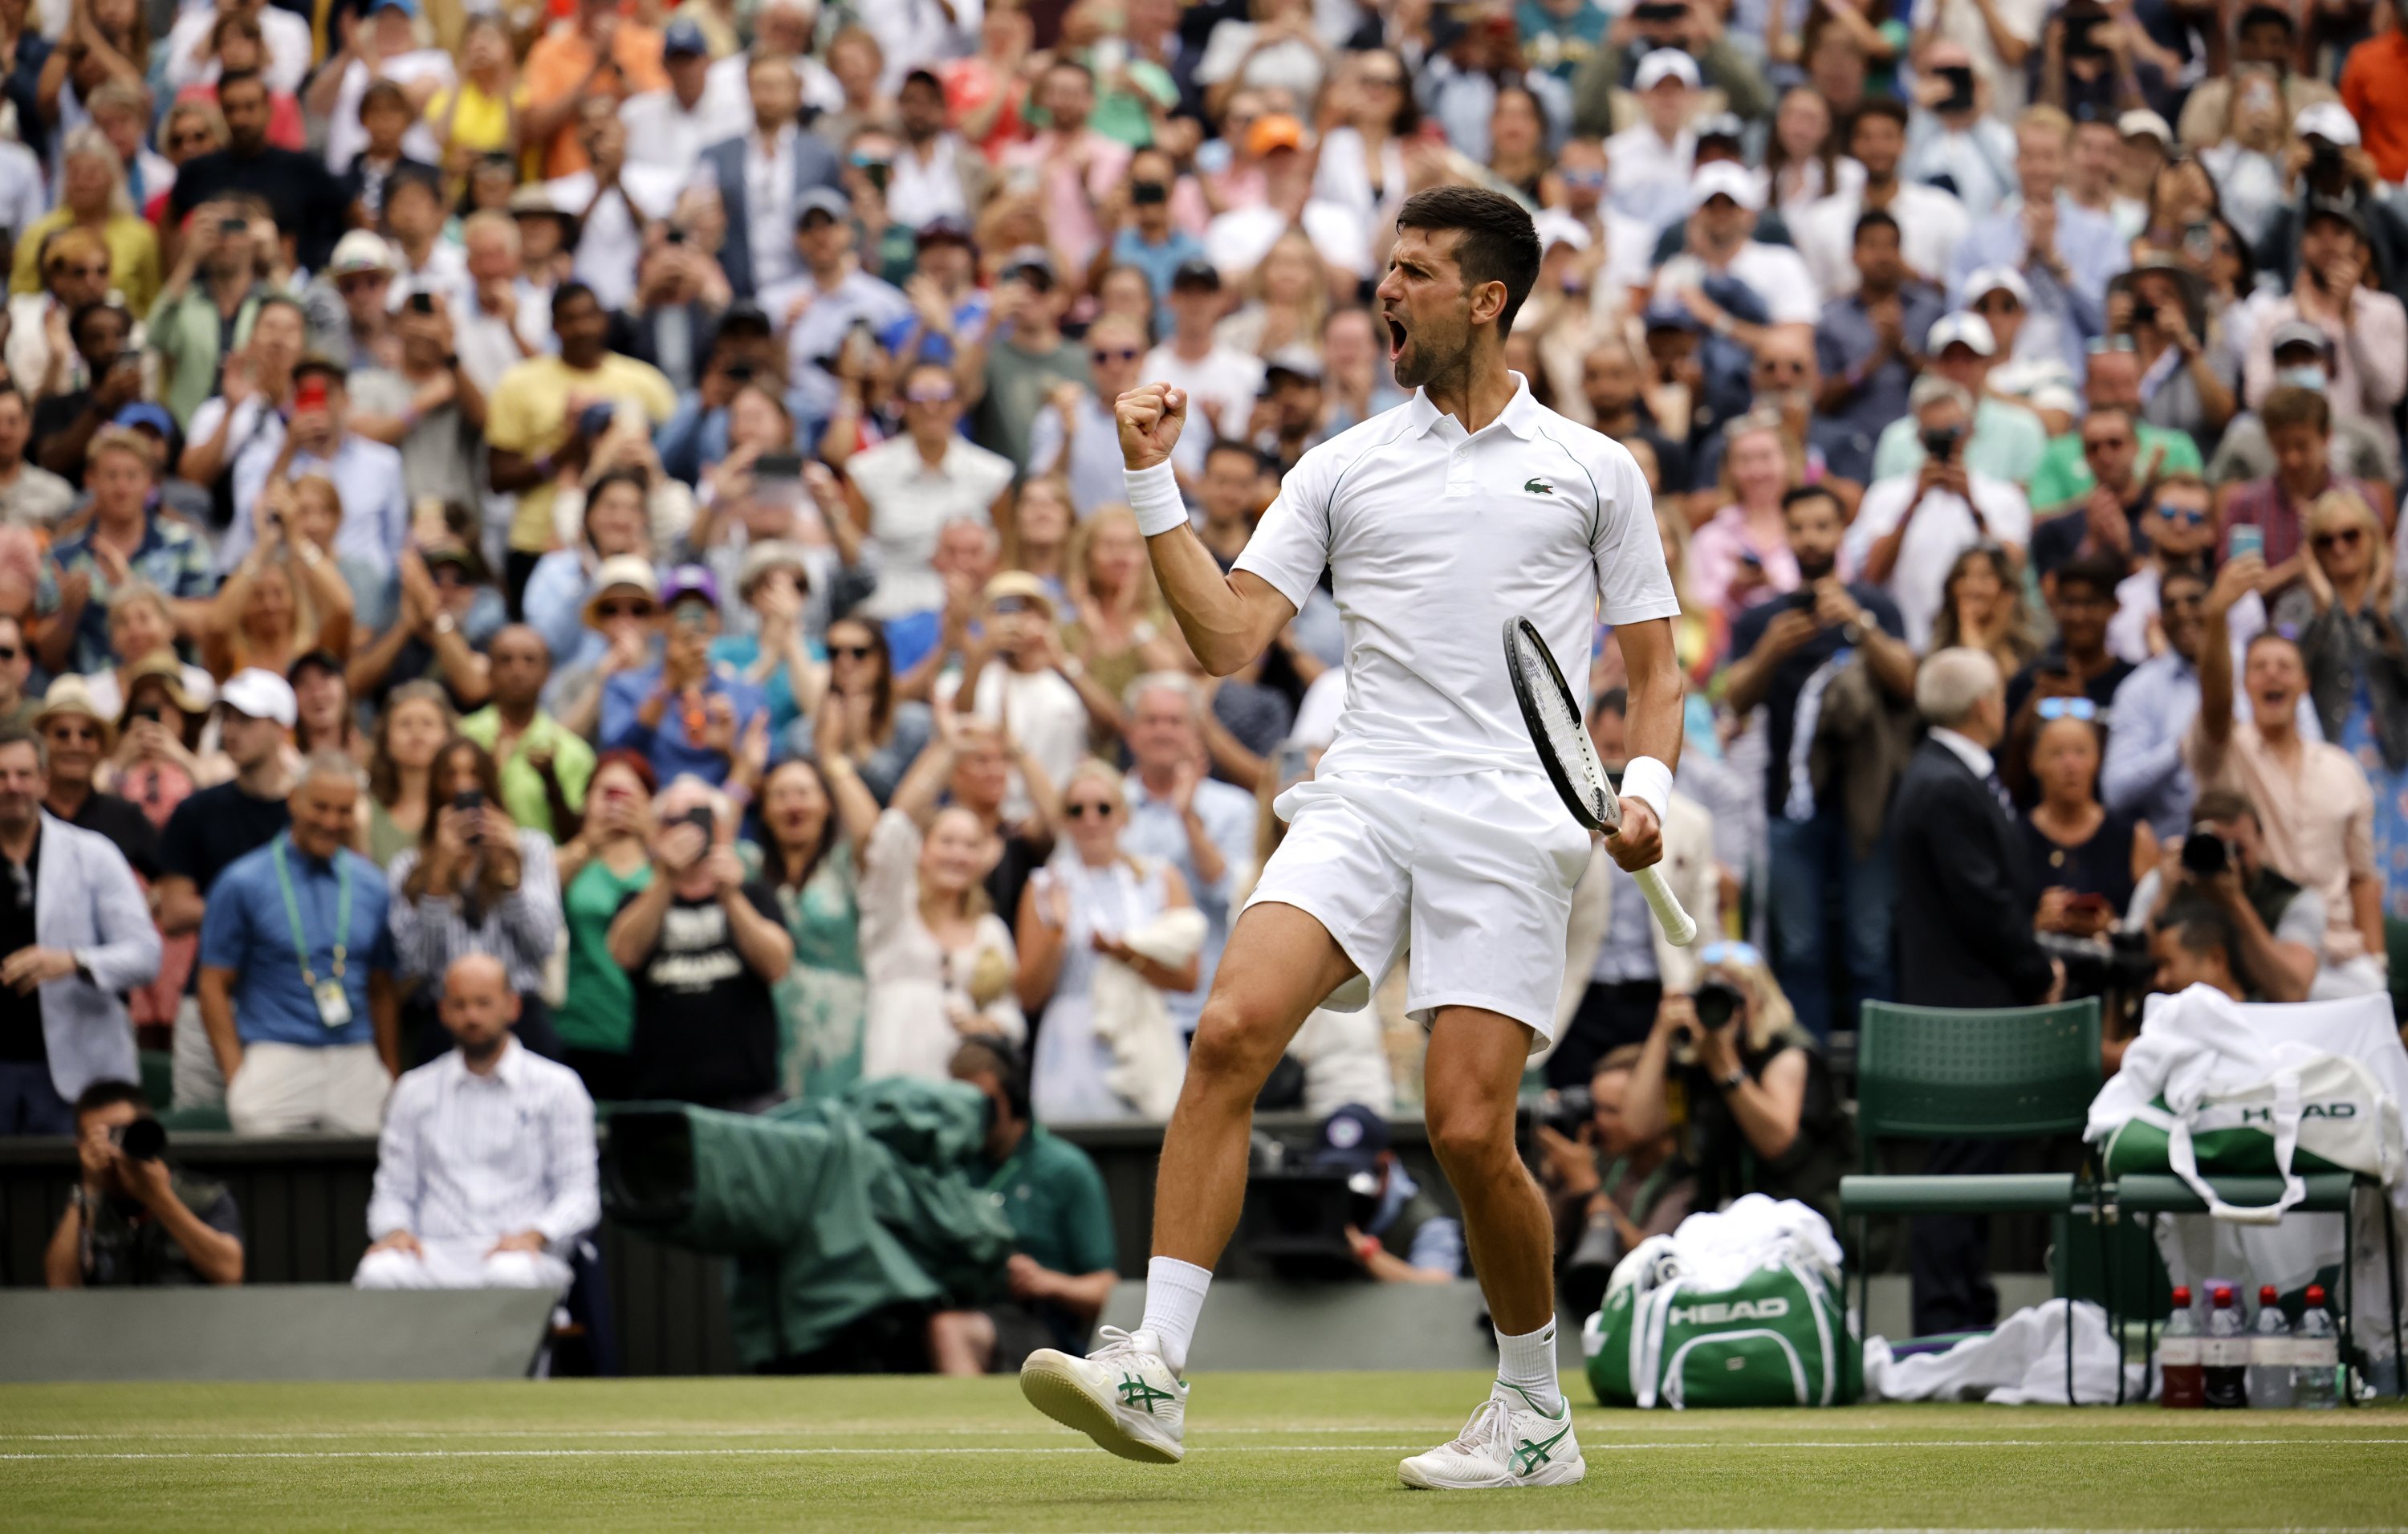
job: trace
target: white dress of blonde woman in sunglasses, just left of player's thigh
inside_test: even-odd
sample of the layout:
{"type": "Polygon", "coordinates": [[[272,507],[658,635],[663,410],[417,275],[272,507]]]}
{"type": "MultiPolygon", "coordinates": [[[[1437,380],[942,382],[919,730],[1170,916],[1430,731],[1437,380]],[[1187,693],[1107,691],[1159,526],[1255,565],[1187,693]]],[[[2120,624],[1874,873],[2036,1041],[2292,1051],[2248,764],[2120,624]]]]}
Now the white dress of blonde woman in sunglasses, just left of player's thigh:
{"type": "Polygon", "coordinates": [[[1062,970],[1055,995],[1038,1023],[1035,1060],[1031,1060],[1031,1105],[1040,1125],[1100,1125],[1139,1117],[1117,1091],[1105,1086],[1112,1050],[1096,1038],[1096,954],[1098,932],[1120,937],[1158,918],[1170,905],[1168,865],[1132,867],[1115,857],[1096,869],[1074,852],[1062,852],[1031,874],[1038,913],[1052,913],[1055,886],[1069,889],[1069,925],[1062,930],[1062,970]]]}

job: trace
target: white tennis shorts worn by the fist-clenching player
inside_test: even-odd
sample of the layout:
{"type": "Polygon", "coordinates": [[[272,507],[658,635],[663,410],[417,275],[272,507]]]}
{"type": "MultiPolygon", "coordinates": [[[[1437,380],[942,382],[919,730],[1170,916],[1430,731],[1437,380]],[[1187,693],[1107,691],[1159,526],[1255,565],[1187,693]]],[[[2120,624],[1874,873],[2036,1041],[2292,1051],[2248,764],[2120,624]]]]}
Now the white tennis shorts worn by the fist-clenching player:
{"type": "Polygon", "coordinates": [[[1546,778],[1339,773],[1274,809],[1288,836],[1247,905],[1312,915],[1373,987],[1409,954],[1404,1004],[1423,1026],[1483,1007],[1529,1023],[1534,1050],[1553,1038],[1589,833],[1546,778]]]}

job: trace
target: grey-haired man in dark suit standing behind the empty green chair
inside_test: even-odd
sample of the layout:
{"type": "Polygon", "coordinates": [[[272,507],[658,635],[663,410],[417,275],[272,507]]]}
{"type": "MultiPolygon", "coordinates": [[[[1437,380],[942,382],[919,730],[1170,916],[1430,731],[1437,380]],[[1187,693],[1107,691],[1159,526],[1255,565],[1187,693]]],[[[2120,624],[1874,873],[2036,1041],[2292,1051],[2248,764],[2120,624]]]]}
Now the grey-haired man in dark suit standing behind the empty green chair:
{"type": "MultiPolygon", "coordinates": [[[[2035,893],[1991,749],[2006,737],[2006,682],[1982,650],[1938,650],[1914,677],[1929,734],[1914,747],[1890,824],[1898,828],[1898,999],[1914,1007],[2054,1002],[2064,968],[2032,937],[2035,893]]],[[[1931,1175],[2006,1168],[2003,1139],[1936,1139],[1931,1175]]],[[[1989,1221],[1914,1221],[1914,1334],[1965,1332],[1999,1317],[1989,1221]]]]}

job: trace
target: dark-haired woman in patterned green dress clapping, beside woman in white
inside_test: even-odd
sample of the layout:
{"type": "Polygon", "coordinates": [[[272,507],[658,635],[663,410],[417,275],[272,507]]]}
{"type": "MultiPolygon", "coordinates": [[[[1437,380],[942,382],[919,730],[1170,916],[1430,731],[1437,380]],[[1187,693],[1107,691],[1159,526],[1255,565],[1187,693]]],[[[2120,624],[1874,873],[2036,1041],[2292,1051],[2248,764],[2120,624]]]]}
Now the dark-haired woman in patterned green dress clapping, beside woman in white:
{"type": "MultiPolygon", "coordinates": [[[[821,703],[826,720],[831,708],[821,703]]],[[[821,730],[828,771],[857,778],[852,761],[821,730]]],[[[860,800],[864,819],[877,802],[860,800]]],[[[778,980],[778,1086],[790,1098],[833,1098],[862,1076],[862,1023],[869,983],[862,978],[860,867],[852,850],[869,826],[848,824],[828,780],[799,756],[780,761],[761,783],[761,877],[778,891],[778,910],[795,937],[795,963],[778,980]]]]}

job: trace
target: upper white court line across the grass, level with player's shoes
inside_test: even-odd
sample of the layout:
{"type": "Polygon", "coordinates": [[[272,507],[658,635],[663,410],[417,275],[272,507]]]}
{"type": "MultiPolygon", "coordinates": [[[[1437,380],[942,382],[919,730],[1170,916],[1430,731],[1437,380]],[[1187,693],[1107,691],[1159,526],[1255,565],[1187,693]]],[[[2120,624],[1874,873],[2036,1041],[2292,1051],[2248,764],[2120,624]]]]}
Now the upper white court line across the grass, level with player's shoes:
{"type": "MultiPolygon", "coordinates": [[[[2357,1445],[2408,1445],[2408,1438],[2117,1438],[2097,1440],[2100,1450],[2174,1450],[2174,1447],[2357,1447],[2357,1445]]],[[[1218,1445],[1221,1455],[1385,1455],[1426,1447],[1421,1442],[1247,1442],[1218,1445]]],[[[1910,1440],[1792,1440],[1792,1442],[1601,1442],[1584,1452],[1640,1452],[1640,1450],[2066,1450],[2056,1438],[1910,1438],[1910,1440]]],[[[624,1447],[624,1450],[101,1450],[101,1452],[0,1452],[0,1462],[58,1462],[58,1459],[739,1459],[739,1457],[898,1457],[925,1459],[929,1455],[1093,1455],[1088,1445],[1062,1447],[975,1447],[975,1445],[920,1445],[920,1447],[624,1447]]]]}

